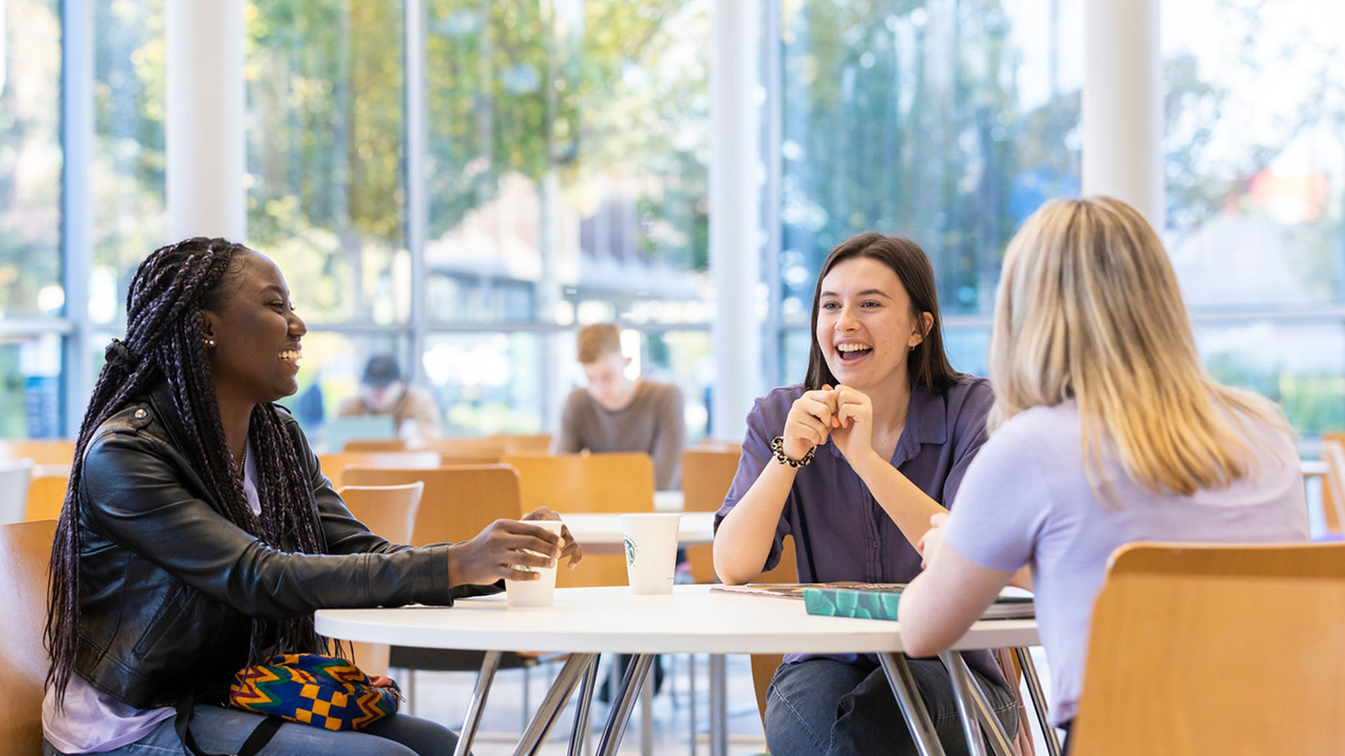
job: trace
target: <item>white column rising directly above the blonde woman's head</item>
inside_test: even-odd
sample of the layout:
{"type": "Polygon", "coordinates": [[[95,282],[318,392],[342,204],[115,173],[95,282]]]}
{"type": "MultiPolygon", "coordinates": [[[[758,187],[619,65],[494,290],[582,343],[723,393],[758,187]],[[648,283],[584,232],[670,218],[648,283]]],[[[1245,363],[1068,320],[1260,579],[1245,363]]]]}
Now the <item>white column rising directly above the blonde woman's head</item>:
{"type": "Polygon", "coordinates": [[[1132,204],[1163,229],[1158,0],[1087,0],[1083,192],[1132,204]]]}

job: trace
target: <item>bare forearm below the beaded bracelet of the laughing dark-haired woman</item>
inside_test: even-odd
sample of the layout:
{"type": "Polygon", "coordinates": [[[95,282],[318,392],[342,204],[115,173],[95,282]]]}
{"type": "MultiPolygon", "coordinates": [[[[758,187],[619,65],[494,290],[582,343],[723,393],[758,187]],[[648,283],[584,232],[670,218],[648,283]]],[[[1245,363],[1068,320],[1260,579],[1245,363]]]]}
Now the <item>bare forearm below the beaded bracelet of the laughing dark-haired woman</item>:
{"type": "Polygon", "coordinates": [[[798,472],[785,464],[767,463],[748,492],[720,522],[714,534],[714,572],[721,581],[740,585],[761,573],[798,472]]]}

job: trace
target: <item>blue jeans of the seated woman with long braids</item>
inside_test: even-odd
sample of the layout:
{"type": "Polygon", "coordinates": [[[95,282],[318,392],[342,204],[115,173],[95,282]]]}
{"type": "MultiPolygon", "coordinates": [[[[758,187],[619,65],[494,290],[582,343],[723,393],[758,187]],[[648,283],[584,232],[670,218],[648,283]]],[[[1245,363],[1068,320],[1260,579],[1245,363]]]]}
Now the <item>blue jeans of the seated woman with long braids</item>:
{"type": "MultiPolygon", "coordinates": [[[[234,753],[265,717],[239,709],[196,706],[191,734],[207,753],[234,753]]],[[[159,724],[145,737],[100,756],[184,756],[187,751],[174,730],[174,718],[159,724]]],[[[367,728],[328,730],[312,725],[285,722],[258,756],[451,756],[457,745],[453,730],[408,714],[385,717],[367,728]]],[[[66,756],[42,741],[43,756],[66,756]]]]}

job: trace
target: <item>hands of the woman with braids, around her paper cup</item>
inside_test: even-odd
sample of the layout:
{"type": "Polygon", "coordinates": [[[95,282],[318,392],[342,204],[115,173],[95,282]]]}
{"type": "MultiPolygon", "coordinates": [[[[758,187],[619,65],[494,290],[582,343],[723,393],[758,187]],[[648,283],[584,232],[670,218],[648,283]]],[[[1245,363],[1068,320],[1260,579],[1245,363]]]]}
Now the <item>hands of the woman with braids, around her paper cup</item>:
{"type": "Polygon", "coordinates": [[[584,558],[584,549],[574,542],[570,529],[561,526],[557,535],[529,521],[561,519],[547,507],[537,507],[523,519],[496,519],[471,541],[448,547],[448,580],[451,585],[490,585],[502,577],[510,580],[537,580],[537,572],[521,568],[557,566],[569,558],[574,569],[584,558]]]}

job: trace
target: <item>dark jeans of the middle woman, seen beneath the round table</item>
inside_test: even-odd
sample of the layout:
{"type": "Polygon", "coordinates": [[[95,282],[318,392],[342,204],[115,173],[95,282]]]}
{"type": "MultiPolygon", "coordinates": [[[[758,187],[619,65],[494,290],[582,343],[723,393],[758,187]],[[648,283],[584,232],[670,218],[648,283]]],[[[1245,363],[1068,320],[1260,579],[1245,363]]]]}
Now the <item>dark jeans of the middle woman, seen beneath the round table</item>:
{"type": "MultiPolygon", "coordinates": [[[[939,659],[907,659],[947,756],[967,753],[952,681],[939,659]]],[[[1018,732],[1013,693],[971,673],[1010,737],[1018,732]]],[[[861,660],[807,659],[780,665],[767,689],[771,756],[917,753],[882,667],[861,660]]]]}

